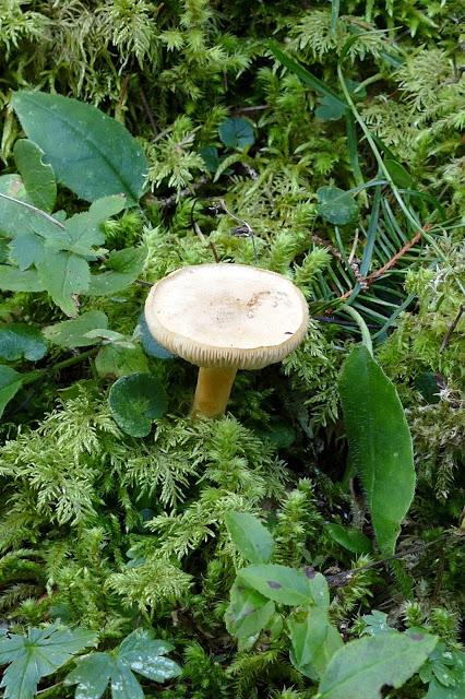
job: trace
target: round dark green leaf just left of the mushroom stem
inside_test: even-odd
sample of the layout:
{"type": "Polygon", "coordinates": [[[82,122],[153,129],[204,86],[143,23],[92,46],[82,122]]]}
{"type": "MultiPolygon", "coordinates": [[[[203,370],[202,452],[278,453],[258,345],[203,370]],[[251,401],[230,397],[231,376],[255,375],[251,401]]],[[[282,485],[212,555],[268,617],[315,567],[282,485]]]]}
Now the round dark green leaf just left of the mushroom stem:
{"type": "Polygon", "coordinates": [[[115,422],[132,437],[146,437],[152,420],[163,417],[168,396],[162,383],[150,374],[130,374],[116,381],[108,402],[115,422]]]}

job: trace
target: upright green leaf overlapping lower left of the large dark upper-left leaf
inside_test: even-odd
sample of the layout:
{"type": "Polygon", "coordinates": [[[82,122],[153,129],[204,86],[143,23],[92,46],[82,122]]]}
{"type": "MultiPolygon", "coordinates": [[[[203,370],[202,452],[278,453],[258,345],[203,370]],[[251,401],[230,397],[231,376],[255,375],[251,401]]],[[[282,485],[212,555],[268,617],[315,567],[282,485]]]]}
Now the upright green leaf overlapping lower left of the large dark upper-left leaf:
{"type": "Polygon", "coordinates": [[[14,144],[14,159],[31,201],[38,209],[53,211],[57,183],[53,168],[43,163],[44,151],[33,141],[20,139],[14,144]]]}

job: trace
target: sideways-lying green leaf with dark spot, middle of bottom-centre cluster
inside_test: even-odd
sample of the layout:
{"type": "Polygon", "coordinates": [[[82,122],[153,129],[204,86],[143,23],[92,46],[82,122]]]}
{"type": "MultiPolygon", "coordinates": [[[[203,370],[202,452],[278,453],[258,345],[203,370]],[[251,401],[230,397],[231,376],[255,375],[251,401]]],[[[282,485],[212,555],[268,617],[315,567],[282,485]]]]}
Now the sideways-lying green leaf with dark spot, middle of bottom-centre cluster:
{"type": "Polygon", "coordinates": [[[301,570],[287,566],[266,564],[242,568],[237,577],[238,584],[253,588],[269,600],[288,605],[313,603],[309,578],[301,570]]]}

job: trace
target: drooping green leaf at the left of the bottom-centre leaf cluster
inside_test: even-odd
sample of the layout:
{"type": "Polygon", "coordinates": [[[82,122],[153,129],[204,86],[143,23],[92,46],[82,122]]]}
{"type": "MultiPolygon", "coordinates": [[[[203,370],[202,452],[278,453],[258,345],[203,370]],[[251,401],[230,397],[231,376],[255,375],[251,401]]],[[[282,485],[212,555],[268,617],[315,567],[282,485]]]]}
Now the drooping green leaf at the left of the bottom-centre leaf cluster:
{"type": "Polygon", "coordinates": [[[228,632],[238,639],[239,650],[253,645],[274,613],[275,605],[271,600],[240,583],[233,585],[225,623],[228,632]]]}

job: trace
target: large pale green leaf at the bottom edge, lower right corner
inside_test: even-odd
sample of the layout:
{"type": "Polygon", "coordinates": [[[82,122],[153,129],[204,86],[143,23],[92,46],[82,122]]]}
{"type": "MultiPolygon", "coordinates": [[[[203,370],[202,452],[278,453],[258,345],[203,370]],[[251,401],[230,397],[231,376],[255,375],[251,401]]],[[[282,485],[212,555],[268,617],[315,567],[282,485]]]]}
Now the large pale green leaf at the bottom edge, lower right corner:
{"type": "Polygon", "coordinates": [[[380,633],[346,643],[331,659],[319,687],[319,699],[381,699],[384,685],[402,687],[424,664],[437,638],[380,633]]]}

